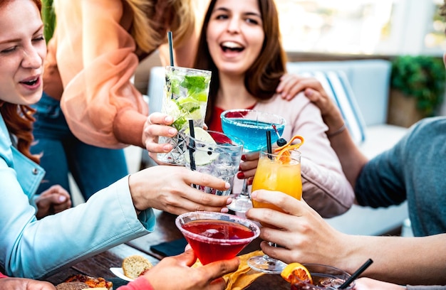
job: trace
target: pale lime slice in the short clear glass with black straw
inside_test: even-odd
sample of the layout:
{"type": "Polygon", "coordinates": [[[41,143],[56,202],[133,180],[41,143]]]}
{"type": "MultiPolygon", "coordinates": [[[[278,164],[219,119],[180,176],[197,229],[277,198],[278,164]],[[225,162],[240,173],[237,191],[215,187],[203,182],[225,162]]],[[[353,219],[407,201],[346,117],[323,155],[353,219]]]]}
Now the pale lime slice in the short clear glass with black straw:
{"type": "MultiPolygon", "coordinates": [[[[195,144],[195,147],[197,148],[197,150],[194,152],[195,165],[203,166],[217,159],[219,154],[214,151],[214,147],[217,145],[217,143],[212,136],[209,135],[206,130],[200,127],[194,127],[194,132],[195,139],[200,141],[195,144]],[[204,144],[206,146],[203,146],[204,144]]],[[[189,128],[186,129],[185,134],[190,135],[189,128]]],[[[187,163],[190,163],[190,153],[188,151],[185,154],[185,160],[187,163]]]]}

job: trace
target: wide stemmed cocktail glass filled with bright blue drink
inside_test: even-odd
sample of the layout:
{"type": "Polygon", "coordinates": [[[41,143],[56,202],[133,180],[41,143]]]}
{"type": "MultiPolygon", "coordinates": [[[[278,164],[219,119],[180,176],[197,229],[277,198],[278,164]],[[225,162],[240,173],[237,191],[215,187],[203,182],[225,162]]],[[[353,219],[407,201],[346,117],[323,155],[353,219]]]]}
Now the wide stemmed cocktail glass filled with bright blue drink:
{"type": "MultiPolygon", "coordinates": [[[[254,109],[229,109],[222,112],[220,118],[225,134],[236,136],[244,141],[245,152],[266,148],[266,131],[271,131],[271,142],[276,142],[279,139],[278,135],[284,132],[286,124],[286,120],[276,114],[254,109]]],[[[241,193],[233,195],[232,200],[228,208],[234,212],[244,213],[252,208],[247,179],[243,181],[241,193]]]]}

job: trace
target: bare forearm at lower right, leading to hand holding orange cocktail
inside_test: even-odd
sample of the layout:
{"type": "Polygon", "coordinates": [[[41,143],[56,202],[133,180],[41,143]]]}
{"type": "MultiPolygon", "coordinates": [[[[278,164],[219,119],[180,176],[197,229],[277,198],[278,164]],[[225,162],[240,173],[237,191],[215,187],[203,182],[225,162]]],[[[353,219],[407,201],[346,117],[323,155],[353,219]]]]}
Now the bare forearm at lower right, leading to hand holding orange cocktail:
{"type": "Polygon", "coordinates": [[[338,267],[354,272],[367,259],[363,276],[395,284],[446,284],[446,234],[430,237],[347,236],[349,249],[338,267]]]}

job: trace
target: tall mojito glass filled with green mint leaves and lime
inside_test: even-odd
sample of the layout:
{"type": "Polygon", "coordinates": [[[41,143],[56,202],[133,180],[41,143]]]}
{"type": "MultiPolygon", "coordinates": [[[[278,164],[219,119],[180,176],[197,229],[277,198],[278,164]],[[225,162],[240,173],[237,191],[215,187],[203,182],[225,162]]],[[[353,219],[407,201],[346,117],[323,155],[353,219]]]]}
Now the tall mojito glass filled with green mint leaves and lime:
{"type": "Polygon", "coordinates": [[[185,130],[189,119],[194,120],[195,127],[203,127],[211,72],[167,66],[165,77],[161,112],[173,117],[172,127],[178,130],[178,134],[172,138],[160,136],[159,143],[172,144],[173,149],[157,154],[157,159],[164,163],[185,165],[185,130]]]}

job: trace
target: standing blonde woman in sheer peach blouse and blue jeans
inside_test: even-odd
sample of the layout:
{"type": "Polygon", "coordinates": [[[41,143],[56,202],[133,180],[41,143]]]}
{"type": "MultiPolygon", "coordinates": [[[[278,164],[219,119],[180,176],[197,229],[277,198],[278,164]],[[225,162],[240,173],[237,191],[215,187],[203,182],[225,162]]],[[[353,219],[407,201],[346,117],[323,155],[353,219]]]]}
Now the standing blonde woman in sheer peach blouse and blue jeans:
{"type": "MultiPolygon", "coordinates": [[[[71,172],[86,200],[128,173],[124,146],[145,148],[149,110],[130,78],[167,46],[167,31],[175,64],[192,65],[195,11],[191,0],[55,0],[54,9],[31,151],[43,154],[47,171],[39,192],[53,184],[68,190],[71,172]]],[[[169,63],[167,49],[160,58],[169,63]]]]}

